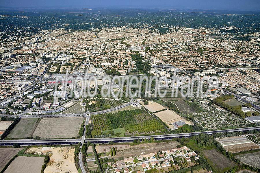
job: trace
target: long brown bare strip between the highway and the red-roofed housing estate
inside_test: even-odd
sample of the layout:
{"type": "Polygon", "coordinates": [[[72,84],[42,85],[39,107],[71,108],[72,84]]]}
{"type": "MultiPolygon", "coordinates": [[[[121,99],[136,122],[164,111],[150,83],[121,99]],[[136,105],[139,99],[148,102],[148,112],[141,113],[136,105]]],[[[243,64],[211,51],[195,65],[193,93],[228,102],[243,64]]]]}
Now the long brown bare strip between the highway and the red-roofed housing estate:
{"type": "MultiPolygon", "coordinates": [[[[176,148],[176,146],[179,145],[179,142],[160,142],[160,143],[141,143],[138,145],[97,145],[96,151],[98,153],[100,152],[110,152],[110,148],[116,148],[116,156],[115,158],[119,157],[133,157],[142,155],[142,152],[145,154],[152,153],[152,152],[158,152],[160,151],[166,151],[173,148],[176,148]]],[[[109,155],[110,157],[110,155],[109,155]]]]}

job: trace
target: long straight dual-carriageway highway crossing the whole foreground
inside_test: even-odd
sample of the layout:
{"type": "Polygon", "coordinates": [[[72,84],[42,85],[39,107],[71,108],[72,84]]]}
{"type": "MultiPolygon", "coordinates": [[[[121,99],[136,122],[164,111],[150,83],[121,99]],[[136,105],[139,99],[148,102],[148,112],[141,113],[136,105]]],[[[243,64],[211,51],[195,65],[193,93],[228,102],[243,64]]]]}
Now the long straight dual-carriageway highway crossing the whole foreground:
{"type": "MultiPolygon", "coordinates": [[[[136,136],[136,137],[116,137],[116,138],[86,138],[85,143],[90,141],[92,143],[108,143],[113,142],[133,142],[137,139],[150,139],[153,137],[156,140],[172,139],[174,137],[191,137],[194,135],[199,135],[200,133],[213,134],[213,133],[224,133],[224,132],[239,132],[247,130],[260,130],[260,126],[257,127],[246,127],[246,128],[236,128],[228,130],[213,130],[205,132],[192,132],[192,133],[179,133],[179,134],[168,134],[168,135],[146,135],[146,136],[136,136]]],[[[2,140],[0,141],[0,146],[12,146],[14,143],[19,143],[22,146],[28,145],[69,145],[77,144],[81,142],[82,139],[17,139],[17,140],[2,140]]]]}

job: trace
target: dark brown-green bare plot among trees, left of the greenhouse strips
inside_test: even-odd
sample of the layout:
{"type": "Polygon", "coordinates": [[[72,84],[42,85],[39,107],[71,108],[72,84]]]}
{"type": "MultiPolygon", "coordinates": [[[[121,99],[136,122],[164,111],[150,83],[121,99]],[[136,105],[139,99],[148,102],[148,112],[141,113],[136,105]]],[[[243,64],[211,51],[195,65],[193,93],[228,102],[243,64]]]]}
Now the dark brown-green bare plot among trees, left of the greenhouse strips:
{"type": "Polygon", "coordinates": [[[209,164],[218,172],[225,172],[235,166],[235,163],[224,157],[216,149],[203,150],[203,154],[210,160],[209,164]]]}

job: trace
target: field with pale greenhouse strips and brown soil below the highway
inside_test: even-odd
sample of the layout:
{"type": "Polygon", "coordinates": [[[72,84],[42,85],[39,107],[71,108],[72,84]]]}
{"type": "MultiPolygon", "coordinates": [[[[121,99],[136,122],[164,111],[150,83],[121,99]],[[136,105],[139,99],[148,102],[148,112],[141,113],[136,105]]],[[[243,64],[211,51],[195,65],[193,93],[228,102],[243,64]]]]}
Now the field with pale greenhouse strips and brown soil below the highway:
{"type": "Polygon", "coordinates": [[[225,137],[216,139],[227,151],[235,153],[259,149],[259,146],[245,136],[225,137]]]}

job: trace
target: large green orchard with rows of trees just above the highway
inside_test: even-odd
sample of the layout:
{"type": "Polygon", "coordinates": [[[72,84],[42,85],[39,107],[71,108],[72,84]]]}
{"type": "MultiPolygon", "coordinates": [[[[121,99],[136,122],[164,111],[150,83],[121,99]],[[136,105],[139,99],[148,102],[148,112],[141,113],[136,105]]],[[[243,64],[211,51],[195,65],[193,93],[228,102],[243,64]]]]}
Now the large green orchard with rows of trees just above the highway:
{"type": "Polygon", "coordinates": [[[160,133],[164,126],[142,109],[106,113],[91,116],[92,136],[102,135],[102,131],[125,128],[126,135],[160,133]]]}

